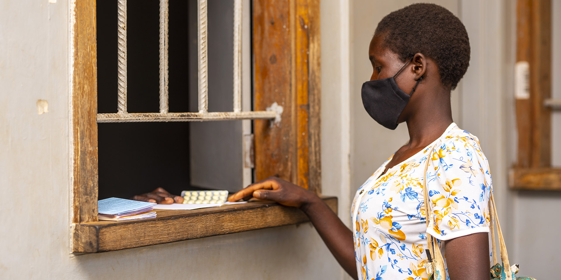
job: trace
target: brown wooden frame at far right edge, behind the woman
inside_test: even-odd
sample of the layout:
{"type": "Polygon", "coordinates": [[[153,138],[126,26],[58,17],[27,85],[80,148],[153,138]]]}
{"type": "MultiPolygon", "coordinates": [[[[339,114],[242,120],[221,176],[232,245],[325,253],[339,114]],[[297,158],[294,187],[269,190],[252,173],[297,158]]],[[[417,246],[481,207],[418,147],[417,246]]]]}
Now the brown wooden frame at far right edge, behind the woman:
{"type": "Polygon", "coordinates": [[[516,98],[517,165],[509,184],[519,190],[561,190],[551,167],[551,0],[517,0],[516,61],[529,64],[529,96],[516,98]]]}

